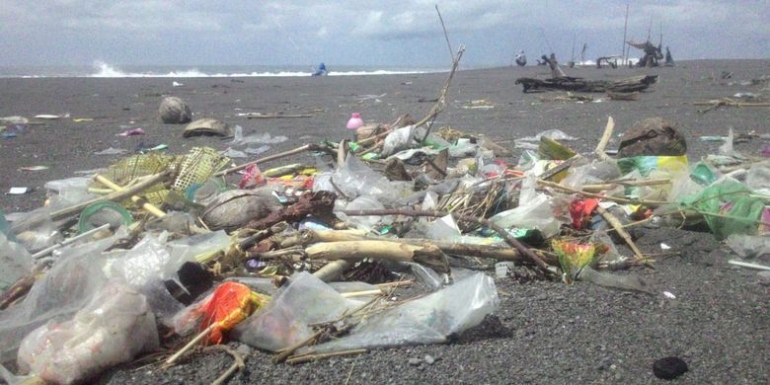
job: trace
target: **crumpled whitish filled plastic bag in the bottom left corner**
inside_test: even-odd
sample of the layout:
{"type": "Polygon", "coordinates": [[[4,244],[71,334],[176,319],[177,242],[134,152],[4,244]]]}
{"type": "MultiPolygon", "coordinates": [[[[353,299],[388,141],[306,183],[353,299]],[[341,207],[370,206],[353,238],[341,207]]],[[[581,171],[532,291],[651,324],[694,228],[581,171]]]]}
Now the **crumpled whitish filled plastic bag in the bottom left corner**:
{"type": "Polygon", "coordinates": [[[72,320],[51,322],[27,335],[19,348],[19,368],[70,384],[158,348],[155,316],[144,295],[116,283],[97,293],[72,320]]]}

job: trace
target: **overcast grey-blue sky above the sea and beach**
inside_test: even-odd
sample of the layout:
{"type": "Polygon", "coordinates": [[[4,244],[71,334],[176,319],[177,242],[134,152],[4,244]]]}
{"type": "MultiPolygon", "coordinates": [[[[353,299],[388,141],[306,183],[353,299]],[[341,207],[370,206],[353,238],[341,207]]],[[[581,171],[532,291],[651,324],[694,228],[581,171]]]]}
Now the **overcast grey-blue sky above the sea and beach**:
{"type": "MultiPolygon", "coordinates": [[[[0,0],[0,65],[508,65],[619,54],[650,34],[675,60],[770,58],[770,0],[0,0]],[[574,44],[573,44],[574,41],[574,44]]],[[[640,56],[632,49],[631,56],[640,56]]]]}

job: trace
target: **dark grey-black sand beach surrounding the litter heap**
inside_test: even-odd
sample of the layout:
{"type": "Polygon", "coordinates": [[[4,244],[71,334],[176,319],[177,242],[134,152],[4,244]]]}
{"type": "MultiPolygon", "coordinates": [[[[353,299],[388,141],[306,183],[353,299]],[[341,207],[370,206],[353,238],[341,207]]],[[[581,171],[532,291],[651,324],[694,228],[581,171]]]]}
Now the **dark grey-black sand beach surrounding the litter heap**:
{"type": "MultiPolygon", "coordinates": [[[[673,68],[566,71],[570,76],[596,80],[637,74],[657,74],[659,79],[637,101],[611,101],[603,94],[586,94],[601,101],[579,104],[543,101],[541,97],[564,93],[524,94],[514,85],[519,77],[550,76],[545,67],[460,71],[436,125],[485,134],[512,149],[514,156],[509,161],[513,162],[521,154],[513,148],[514,139],[548,129],[578,137],[565,144],[591,152],[608,116],[616,123],[609,149],[617,148],[618,135],[633,123],[654,116],[679,125],[691,162],[716,153],[721,145],[701,141],[701,136],[726,136],[729,128],[736,135],[755,135],[735,144],[735,149],[747,156],[758,157],[770,146],[766,136],[770,134],[768,107],[722,107],[699,113],[706,106],[693,105],[739,92],[770,95],[770,83],[751,82],[770,75],[770,61],[690,61],[673,68]],[[480,100],[491,108],[474,108],[480,100]]],[[[69,118],[31,119],[36,123],[15,138],[0,138],[0,208],[8,214],[40,207],[45,200],[45,182],[116,162],[119,156],[94,155],[110,147],[133,151],[140,143],[145,147],[166,144],[168,151],[176,154],[196,146],[228,147],[228,140],[217,138],[183,139],[184,126],[161,124],[157,110],[165,95],[187,101],[194,118],[213,117],[231,126],[240,125],[247,135],[289,137],[271,145],[264,156],[323,139],[349,137],[345,123],[351,112],[360,112],[367,122],[389,123],[405,113],[419,119],[433,106],[446,77],[446,73],[436,73],[238,79],[3,78],[0,117],[68,113],[69,118]],[[184,85],[173,87],[174,80],[184,85]],[[249,120],[238,115],[248,112],[310,117],[249,120]],[[76,118],[93,120],[75,122],[76,118]],[[116,136],[137,127],[146,134],[116,136]],[[37,165],[49,168],[20,170],[37,165]],[[30,187],[33,191],[7,194],[11,187],[30,187]]],[[[312,158],[303,154],[265,167],[300,160],[312,158]]],[[[661,243],[680,253],[657,261],[654,270],[633,271],[650,283],[655,295],[580,282],[519,284],[496,279],[499,311],[451,344],[378,349],[297,366],[273,365],[271,355],[252,350],[247,369],[229,383],[656,383],[660,380],[652,374],[652,363],[666,356],[679,356],[689,365],[682,383],[770,382],[770,285],[760,282],[755,271],[728,265],[731,255],[710,233],[647,229],[637,242],[645,253],[659,253],[661,243]],[[663,291],[675,294],[676,299],[666,298],[663,291]],[[427,356],[431,359],[426,360],[427,356]]],[[[756,262],[768,265],[768,257],[756,262]]],[[[230,363],[225,353],[200,353],[168,370],[158,365],[112,370],[100,383],[210,383],[230,363]]]]}

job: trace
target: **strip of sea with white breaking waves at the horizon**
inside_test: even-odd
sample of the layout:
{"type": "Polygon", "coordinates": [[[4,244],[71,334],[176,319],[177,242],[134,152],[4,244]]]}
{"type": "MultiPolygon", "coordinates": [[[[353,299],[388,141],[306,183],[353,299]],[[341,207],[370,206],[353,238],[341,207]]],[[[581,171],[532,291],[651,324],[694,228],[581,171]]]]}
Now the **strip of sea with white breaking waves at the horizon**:
{"type": "MultiPolygon", "coordinates": [[[[364,67],[327,66],[329,76],[389,75],[447,72],[448,68],[417,67],[364,67]]],[[[84,66],[5,66],[0,67],[2,78],[201,78],[201,77],[288,77],[310,76],[315,71],[311,65],[114,65],[95,62],[84,66]]]]}

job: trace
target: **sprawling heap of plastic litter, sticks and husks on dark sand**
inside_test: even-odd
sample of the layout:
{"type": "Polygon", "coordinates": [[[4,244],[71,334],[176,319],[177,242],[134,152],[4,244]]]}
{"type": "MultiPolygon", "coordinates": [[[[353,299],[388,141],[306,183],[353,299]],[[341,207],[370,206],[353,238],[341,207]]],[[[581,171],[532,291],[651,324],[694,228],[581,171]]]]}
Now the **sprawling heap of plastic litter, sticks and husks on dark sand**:
{"type": "Polygon", "coordinates": [[[0,359],[71,383],[190,340],[295,363],[445,343],[495,311],[498,262],[498,279],[650,292],[603,271],[652,263],[633,226],[705,223],[746,258],[768,247],[770,162],[729,140],[690,164],[673,134],[613,158],[552,131],[518,141],[512,162],[488,138],[358,123],[356,142],[273,156],[313,164],[195,148],[49,182],[45,205],[0,215],[0,359]]]}

